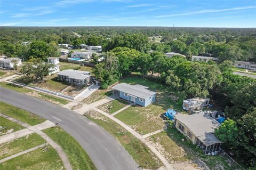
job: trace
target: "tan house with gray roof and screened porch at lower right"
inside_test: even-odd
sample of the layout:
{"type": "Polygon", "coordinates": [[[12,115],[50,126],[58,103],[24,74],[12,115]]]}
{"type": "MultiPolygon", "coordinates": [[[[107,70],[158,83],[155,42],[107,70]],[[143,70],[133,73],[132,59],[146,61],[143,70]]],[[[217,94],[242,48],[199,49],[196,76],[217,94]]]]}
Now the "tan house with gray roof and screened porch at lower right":
{"type": "Polygon", "coordinates": [[[193,144],[198,145],[205,153],[219,151],[222,141],[214,135],[214,130],[220,123],[204,113],[194,115],[177,114],[175,127],[193,144]]]}

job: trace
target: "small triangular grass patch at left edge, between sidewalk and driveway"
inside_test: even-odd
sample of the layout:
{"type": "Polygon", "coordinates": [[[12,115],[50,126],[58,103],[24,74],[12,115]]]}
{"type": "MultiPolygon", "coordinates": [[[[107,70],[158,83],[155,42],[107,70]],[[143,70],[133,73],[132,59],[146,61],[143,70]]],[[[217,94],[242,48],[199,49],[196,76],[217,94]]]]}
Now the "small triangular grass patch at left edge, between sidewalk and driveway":
{"type": "Polygon", "coordinates": [[[3,117],[0,117],[0,126],[4,127],[4,129],[0,131],[0,136],[5,135],[7,133],[19,131],[24,128],[16,123],[13,123],[11,120],[5,119],[3,117]]]}

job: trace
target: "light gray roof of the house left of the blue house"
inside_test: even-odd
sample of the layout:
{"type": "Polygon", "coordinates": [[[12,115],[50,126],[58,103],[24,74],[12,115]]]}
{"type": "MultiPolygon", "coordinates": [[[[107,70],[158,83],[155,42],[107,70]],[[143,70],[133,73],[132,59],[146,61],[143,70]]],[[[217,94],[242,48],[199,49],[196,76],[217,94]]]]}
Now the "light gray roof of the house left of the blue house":
{"type": "Polygon", "coordinates": [[[80,71],[80,70],[63,70],[58,73],[58,75],[62,76],[68,76],[69,78],[74,78],[74,79],[85,79],[87,77],[91,77],[89,75],[89,71],[80,71]]]}

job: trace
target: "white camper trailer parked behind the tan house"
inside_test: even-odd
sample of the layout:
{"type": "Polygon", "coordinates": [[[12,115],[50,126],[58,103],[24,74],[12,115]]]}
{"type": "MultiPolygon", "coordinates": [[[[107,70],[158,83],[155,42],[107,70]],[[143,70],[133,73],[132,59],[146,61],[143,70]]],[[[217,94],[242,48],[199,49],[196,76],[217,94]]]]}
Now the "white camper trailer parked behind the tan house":
{"type": "Polygon", "coordinates": [[[200,98],[193,98],[193,99],[187,99],[183,100],[183,110],[197,110],[202,107],[209,106],[210,99],[200,99],[200,98]]]}

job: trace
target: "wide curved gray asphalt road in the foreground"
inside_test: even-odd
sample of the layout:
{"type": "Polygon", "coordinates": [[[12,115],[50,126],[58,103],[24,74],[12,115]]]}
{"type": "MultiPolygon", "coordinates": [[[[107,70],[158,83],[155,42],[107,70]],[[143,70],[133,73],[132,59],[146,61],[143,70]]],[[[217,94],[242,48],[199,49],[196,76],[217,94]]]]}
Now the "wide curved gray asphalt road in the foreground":
{"type": "Polygon", "coordinates": [[[139,165],[113,136],[74,111],[3,87],[0,87],[0,101],[59,123],[82,145],[97,169],[139,169],[139,165]]]}

